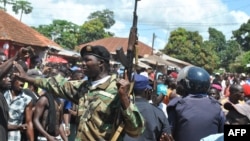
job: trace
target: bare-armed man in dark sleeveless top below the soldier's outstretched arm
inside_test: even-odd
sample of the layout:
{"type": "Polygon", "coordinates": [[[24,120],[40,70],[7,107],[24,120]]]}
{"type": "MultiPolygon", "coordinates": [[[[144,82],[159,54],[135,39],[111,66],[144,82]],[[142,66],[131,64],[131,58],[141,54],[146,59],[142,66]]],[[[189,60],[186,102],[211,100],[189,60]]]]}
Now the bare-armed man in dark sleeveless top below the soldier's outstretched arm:
{"type": "Polygon", "coordinates": [[[62,102],[49,93],[39,98],[33,118],[38,141],[68,141],[62,125],[62,107],[62,102]]]}

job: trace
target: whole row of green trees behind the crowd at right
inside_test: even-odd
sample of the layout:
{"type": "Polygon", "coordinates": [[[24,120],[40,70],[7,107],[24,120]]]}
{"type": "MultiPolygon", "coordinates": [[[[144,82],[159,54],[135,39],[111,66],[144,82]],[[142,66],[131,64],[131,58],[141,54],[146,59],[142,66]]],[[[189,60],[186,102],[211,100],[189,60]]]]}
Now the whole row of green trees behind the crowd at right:
{"type": "Polygon", "coordinates": [[[250,20],[233,31],[230,40],[215,28],[208,28],[209,38],[203,41],[198,32],[178,28],[170,33],[165,54],[214,72],[221,68],[230,72],[249,71],[250,20]]]}

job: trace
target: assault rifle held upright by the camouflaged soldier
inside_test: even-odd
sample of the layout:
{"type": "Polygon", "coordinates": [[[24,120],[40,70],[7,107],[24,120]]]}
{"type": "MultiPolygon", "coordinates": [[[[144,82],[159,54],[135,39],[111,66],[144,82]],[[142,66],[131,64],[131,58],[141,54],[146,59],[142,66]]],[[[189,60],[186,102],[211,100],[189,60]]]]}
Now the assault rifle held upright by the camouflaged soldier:
{"type": "MultiPolygon", "coordinates": [[[[129,94],[131,94],[132,89],[133,89],[133,85],[134,85],[134,81],[133,81],[133,76],[132,73],[134,71],[133,67],[134,67],[134,63],[133,60],[135,58],[135,64],[137,65],[137,44],[138,44],[138,36],[137,36],[137,2],[140,0],[135,0],[135,7],[134,7],[134,12],[133,12],[133,25],[130,29],[130,33],[129,33],[129,39],[128,39],[128,48],[127,48],[127,55],[124,54],[123,48],[119,47],[118,49],[116,49],[116,55],[118,57],[118,60],[121,62],[121,64],[125,67],[124,70],[124,76],[123,78],[125,78],[125,75],[127,75],[130,83],[130,90],[129,90],[129,94]]],[[[119,137],[119,135],[121,134],[123,128],[124,128],[124,123],[120,123],[120,125],[118,126],[116,132],[114,133],[111,141],[116,141],[117,138],[119,137]]]]}

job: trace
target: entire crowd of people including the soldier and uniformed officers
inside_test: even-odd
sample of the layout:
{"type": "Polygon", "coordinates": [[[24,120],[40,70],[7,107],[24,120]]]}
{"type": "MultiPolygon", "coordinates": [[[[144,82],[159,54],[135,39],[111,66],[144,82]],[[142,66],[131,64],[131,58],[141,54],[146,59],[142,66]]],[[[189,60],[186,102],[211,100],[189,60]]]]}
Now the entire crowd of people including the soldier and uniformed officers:
{"type": "Polygon", "coordinates": [[[0,53],[1,141],[221,141],[224,125],[250,123],[245,73],[136,68],[131,83],[100,45],[74,66],[27,65],[30,52],[0,53]]]}

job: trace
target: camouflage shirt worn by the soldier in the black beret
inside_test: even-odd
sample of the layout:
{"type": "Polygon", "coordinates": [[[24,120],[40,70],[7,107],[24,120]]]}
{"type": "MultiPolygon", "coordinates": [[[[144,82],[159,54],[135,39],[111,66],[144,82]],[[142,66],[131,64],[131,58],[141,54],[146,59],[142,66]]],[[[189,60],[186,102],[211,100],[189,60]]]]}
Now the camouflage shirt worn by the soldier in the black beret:
{"type": "Polygon", "coordinates": [[[95,88],[87,81],[68,81],[61,75],[36,79],[35,84],[79,105],[76,140],[110,140],[121,121],[125,124],[125,133],[138,136],[144,131],[143,117],[133,103],[122,109],[115,78],[111,76],[95,88]]]}

